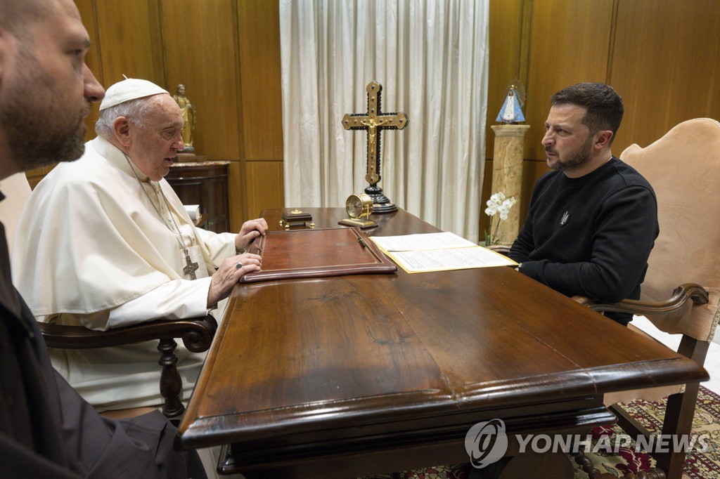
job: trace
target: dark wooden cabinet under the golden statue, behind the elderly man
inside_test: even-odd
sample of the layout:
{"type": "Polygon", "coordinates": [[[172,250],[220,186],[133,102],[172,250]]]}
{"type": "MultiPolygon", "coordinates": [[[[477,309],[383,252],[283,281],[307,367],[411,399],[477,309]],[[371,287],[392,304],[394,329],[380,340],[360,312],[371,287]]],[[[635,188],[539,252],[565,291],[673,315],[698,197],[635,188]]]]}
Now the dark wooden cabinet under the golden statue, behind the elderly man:
{"type": "Polygon", "coordinates": [[[199,204],[207,219],[200,227],[222,233],[230,230],[228,216],[229,161],[176,163],[165,179],[183,204],[199,204]]]}

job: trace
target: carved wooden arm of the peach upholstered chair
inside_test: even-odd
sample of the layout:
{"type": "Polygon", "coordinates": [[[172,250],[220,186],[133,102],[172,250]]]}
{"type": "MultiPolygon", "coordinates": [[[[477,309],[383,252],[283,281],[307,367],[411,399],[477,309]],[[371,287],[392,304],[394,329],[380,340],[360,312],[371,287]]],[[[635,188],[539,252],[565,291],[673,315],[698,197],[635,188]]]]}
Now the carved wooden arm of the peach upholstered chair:
{"type": "Polygon", "coordinates": [[[585,296],[573,296],[572,299],[578,303],[588,306],[593,311],[608,311],[612,313],[630,314],[677,314],[684,311],[685,304],[693,301],[693,304],[707,304],[708,292],[696,283],[685,283],[672,291],[672,296],[667,301],[639,301],[635,299],[624,299],[618,303],[605,303],[585,296]]]}

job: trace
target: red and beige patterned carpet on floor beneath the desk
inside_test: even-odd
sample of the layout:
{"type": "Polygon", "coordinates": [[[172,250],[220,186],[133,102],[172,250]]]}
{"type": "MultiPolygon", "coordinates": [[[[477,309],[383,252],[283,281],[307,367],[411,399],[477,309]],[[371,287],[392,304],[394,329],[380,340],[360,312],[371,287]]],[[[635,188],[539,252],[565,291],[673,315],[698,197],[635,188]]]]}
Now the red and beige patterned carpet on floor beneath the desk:
{"type": "MultiPolygon", "coordinates": [[[[665,411],[665,400],[657,402],[633,401],[626,404],[625,409],[640,421],[650,432],[659,432],[662,417],[665,411]]],[[[700,387],[698,405],[693,419],[693,433],[703,434],[704,443],[708,447],[706,452],[693,451],[685,460],[683,479],[720,479],[720,396],[708,389],[700,387]]],[[[620,428],[597,427],[593,429],[593,445],[598,441],[601,444],[616,444],[616,435],[623,434],[620,428]],[[609,442],[608,442],[609,436],[609,442]],[[605,439],[603,439],[605,437],[605,439]]],[[[593,461],[595,469],[600,473],[609,473],[616,478],[622,478],[626,473],[636,474],[642,470],[654,467],[654,460],[647,452],[635,452],[635,443],[629,447],[621,447],[618,454],[600,451],[588,452],[587,456],[593,461]]],[[[598,449],[593,447],[593,450],[598,449]]],[[[575,461],[572,462],[575,464],[575,461]]],[[[469,464],[444,465],[428,467],[421,470],[409,470],[400,473],[402,479],[468,479],[472,472],[469,464]]],[[[391,479],[391,474],[373,475],[364,479],[391,479]]],[[[580,466],[575,469],[575,479],[587,479],[588,475],[582,472],[580,466]]]]}

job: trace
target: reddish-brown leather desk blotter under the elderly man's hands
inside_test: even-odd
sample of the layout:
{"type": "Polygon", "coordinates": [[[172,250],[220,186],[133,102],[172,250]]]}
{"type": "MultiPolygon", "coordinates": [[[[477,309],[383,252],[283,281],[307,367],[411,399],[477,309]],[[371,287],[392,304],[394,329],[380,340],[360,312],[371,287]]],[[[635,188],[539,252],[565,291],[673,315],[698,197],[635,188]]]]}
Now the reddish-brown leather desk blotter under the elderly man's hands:
{"type": "Polygon", "coordinates": [[[356,228],[269,231],[258,240],[248,252],[259,250],[263,269],[243,275],[240,283],[397,271],[356,228]]]}

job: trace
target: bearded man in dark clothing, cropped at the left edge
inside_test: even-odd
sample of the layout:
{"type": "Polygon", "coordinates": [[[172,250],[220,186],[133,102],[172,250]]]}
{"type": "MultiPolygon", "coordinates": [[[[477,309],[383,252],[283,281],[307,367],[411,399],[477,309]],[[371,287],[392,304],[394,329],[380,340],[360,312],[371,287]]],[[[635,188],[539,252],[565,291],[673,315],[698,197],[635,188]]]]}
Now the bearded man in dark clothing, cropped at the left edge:
{"type": "MultiPolygon", "coordinates": [[[[0,181],[82,155],[83,118],[104,96],[84,62],[89,45],[72,0],[0,0],[0,181]]],[[[53,370],[9,263],[0,224],[0,475],[204,478],[158,411],[105,418],[53,370]]]]}

